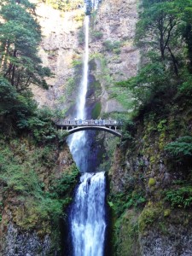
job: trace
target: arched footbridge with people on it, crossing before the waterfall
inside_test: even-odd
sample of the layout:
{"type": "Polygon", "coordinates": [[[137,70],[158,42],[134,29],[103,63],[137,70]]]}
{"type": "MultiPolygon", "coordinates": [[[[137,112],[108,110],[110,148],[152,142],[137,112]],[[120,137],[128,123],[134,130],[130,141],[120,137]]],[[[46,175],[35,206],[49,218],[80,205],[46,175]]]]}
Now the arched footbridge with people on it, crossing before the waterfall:
{"type": "Polygon", "coordinates": [[[111,120],[111,119],[91,119],[91,120],[65,120],[60,119],[55,121],[55,125],[58,130],[68,131],[72,134],[77,131],[86,130],[97,130],[97,131],[107,131],[115,136],[121,137],[120,128],[123,126],[121,121],[111,120]]]}

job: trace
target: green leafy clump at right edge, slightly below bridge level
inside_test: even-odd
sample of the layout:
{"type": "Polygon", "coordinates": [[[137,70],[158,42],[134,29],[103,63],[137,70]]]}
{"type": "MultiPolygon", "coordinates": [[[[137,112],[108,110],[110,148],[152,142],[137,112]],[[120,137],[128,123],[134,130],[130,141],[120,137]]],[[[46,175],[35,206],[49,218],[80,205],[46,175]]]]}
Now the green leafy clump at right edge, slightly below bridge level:
{"type": "Polygon", "coordinates": [[[166,151],[179,160],[192,156],[192,137],[185,136],[177,138],[176,142],[169,143],[165,147],[166,151]]]}

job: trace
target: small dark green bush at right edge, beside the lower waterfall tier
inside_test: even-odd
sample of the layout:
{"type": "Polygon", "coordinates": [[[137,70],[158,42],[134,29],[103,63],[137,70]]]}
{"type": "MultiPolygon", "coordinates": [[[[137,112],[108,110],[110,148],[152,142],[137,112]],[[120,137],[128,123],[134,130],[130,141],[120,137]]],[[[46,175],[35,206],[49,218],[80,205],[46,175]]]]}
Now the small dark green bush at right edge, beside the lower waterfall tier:
{"type": "Polygon", "coordinates": [[[172,207],[191,207],[192,206],[192,187],[185,186],[166,191],[166,201],[170,201],[172,207]]]}

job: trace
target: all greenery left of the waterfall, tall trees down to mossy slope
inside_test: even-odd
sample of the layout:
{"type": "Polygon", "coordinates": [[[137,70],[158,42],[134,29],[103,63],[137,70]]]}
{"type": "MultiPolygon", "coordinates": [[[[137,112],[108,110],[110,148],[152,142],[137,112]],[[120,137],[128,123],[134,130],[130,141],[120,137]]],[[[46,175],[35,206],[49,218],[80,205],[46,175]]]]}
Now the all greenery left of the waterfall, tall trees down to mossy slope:
{"type": "Polygon", "coordinates": [[[51,75],[38,57],[42,38],[35,5],[3,0],[0,20],[0,222],[4,230],[13,223],[40,237],[57,236],[59,247],[60,221],[79,172],[57,161],[67,136],[55,127],[61,113],[38,108],[32,98],[30,85],[48,89],[45,78],[51,75]]]}

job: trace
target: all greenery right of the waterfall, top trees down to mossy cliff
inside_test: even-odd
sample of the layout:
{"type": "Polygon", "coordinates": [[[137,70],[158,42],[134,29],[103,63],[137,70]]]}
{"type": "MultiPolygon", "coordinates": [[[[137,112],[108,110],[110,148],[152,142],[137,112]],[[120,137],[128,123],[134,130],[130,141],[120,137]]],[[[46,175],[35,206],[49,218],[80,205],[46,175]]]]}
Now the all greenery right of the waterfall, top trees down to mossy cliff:
{"type": "Polygon", "coordinates": [[[125,248],[137,255],[131,244],[153,232],[172,239],[172,227],[191,218],[192,2],[143,0],[140,8],[137,76],[110,90],[129,111],[113,113],[126,123],[110,173],[114,255],[125,248]],[[132,239],[130,211],[137,212],[132,239]]]}

